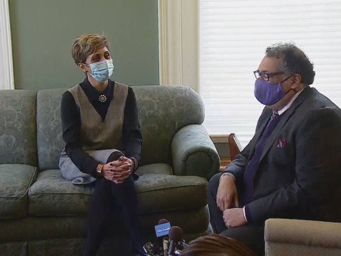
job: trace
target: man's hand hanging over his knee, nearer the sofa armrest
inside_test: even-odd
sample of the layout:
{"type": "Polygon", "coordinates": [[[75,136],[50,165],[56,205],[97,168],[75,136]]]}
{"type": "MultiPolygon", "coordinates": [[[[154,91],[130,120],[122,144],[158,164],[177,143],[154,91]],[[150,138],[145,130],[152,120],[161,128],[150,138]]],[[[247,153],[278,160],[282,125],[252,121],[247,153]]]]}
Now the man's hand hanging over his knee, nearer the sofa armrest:
{"type": "Polygon", "coordinates": [[[217,191],[217,206],[222,212],[233,206],[239,207],[236,183],[231,175],[221,177],[217,191]]]}

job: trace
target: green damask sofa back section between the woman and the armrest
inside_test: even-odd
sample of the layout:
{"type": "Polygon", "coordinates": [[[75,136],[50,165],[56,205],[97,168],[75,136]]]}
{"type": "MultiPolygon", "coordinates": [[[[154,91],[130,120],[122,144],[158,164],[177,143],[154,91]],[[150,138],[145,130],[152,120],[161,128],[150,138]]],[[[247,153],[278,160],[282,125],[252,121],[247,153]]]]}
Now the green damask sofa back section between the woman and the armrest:
{"type": "Polygon", "coordinates": [[[171,162],[170,144],[183,126],[202,124],[205,110],[201,97],[184,86],[133,86],[142,129],[142,165],[171,162]],[[151,150],[151,148],[153,150],[151,150]]]}

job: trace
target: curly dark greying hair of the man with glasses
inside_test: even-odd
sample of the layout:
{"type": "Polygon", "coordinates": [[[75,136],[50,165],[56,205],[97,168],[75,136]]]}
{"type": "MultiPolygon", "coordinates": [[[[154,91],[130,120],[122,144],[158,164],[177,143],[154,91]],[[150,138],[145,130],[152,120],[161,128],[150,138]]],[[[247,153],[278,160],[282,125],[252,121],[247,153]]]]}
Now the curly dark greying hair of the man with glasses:
{"type": "Polygon", "coordinates": [[[285,74],[300,74],[302,84],[310,85],[314,82],[315,71],[308,56],[293,43],[278,43],[266,48],[267,57],[282,58],[282,71],[285,74]]]}

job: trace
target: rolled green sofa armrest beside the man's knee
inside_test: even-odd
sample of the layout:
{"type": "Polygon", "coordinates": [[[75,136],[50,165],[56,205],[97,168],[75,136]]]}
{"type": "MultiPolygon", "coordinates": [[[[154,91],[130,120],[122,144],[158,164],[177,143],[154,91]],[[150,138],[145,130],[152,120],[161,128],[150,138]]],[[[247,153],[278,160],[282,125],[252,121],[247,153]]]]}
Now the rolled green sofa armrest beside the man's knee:
{"type": "Polygon", "coordinates": [[[174,135],[172,158],[175,175],[195,175],[210,180],[219,172],[217,149],[202,125],[187,125],[174,135]]]}

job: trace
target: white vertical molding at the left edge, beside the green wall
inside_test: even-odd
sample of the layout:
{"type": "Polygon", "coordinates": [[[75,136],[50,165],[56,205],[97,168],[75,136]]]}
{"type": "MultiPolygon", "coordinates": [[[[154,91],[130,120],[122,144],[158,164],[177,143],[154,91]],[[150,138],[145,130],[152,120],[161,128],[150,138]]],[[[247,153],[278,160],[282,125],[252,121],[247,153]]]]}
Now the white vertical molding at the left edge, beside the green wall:
{"type": "Polygon", "coordinates": [[[0,0],[0,89],[14,89],[10,9],[8,0],[0,0]]]}

